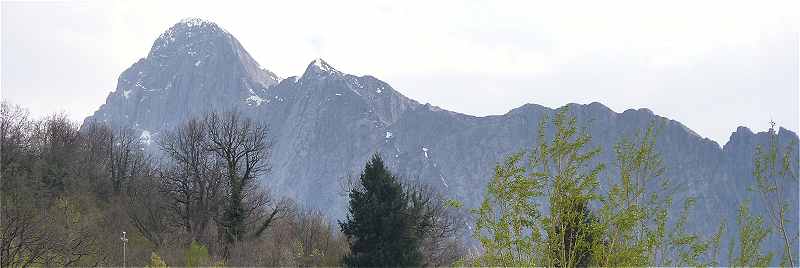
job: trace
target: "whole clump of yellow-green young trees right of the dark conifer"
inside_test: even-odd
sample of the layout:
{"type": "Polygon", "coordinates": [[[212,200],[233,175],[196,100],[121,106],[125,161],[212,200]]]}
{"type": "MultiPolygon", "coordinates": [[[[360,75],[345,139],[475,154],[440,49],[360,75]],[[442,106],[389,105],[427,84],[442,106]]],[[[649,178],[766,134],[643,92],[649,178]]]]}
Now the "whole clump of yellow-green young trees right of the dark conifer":
{"type": "MultiPolygon", "coordinates": [[[[619,176],[597,193],[604,165],[599,149],[565,108],[539,125],[539,143],[495,167],[476,215],[482,255],[475,266],[704,266],[719,265],[721,224],[709,239],[686,231],[695,200],[671,219],[672,195],[656,151],[656,124],[614,147],[619,176]],[[547,140],[549,123],[553,136],[547,140]],[[546,141],[547,140],[547,141],[546,141]],[[651,188],[653,185],[658,188],[651,188]],[[544,199],[544,200],[542,200],[544,199]],[[538,201],[546,201],[542,213],[538,201]],[[593,210],[591,204],[600,206],[593,210]]],[[[464,263],[462,263],[464,264],[464,263]]]]}

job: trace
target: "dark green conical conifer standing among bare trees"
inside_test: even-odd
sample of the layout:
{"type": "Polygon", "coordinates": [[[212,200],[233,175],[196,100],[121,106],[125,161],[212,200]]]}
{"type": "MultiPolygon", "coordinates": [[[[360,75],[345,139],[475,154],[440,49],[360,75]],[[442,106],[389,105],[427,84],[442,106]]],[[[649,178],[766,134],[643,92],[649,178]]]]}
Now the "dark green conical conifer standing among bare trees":
{"type": "Polygon", "coordinates": [[[347,219],[340,222],[350,244],[346,266],[419,266],[417,219],[398,178],[374,155],[350,190],[347,219]]]}

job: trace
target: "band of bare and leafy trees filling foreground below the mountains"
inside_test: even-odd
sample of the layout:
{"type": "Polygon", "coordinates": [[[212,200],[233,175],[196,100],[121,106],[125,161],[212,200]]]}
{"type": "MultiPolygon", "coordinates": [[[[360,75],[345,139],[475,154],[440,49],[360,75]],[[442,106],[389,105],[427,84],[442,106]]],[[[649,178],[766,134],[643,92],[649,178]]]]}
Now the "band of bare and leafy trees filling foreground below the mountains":
{"type": "Polygon", "coordinates": [[[131,129],[79,130],[3,103],[2,265],[795,265],[785,196],[796,188],[785,186],[797,184],[796,144],[770,129],[751,156],[766,209],[731,202],[723,213],[736,221],[704,233],[690,228],[704,220],[702,199],[675,198],[664,176],[655,121],[598,163],[602,150],[568,111],[498,163],[477,207],[394,175],[375,154],[341,182],[348,213],[331,219],[257,180],[270,172],[269,128],[241,113],[190,119],[150,153],[131,129]]]}

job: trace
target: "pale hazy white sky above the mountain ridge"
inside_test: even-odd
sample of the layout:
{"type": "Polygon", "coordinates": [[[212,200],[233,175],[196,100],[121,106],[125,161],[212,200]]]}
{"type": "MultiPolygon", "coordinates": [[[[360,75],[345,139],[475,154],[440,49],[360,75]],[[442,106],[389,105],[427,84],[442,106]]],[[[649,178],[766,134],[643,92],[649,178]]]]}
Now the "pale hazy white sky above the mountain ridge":
{"type": "Polygon", "coordinates": [[[750,3],[3,1],[0,94],[82,120],[161,32],[201,17],[281,77],[322,57],[466,114],[598,101],[724,144],[740,125],[800,121],[800,7],[750,3]]]}

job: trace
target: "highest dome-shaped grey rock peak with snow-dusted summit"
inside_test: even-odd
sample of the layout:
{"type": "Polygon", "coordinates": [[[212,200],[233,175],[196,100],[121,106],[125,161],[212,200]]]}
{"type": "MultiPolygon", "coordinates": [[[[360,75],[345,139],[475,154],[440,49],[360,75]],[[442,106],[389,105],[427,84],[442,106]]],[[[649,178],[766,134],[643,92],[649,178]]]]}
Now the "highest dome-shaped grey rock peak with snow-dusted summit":
{"type": "Polygon", "coordinates": [[[116,90],[84,123],[110,122],[156,138],[193,115],[238,107],[250,111],[278,80],[215,23],[186,19],[122,72],[116,90]]]}

